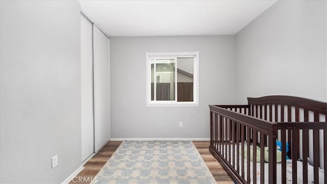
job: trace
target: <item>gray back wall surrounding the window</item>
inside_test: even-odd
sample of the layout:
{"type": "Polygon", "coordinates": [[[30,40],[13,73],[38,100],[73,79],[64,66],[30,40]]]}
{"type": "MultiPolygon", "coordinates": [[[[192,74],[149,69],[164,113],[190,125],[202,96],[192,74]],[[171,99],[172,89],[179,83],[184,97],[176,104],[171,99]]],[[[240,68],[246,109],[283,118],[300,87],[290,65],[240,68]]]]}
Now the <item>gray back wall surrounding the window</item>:
{"type": "Polygon", "coordinates": [[[209,138],[208,104],[235,99],[235,37],[110,37],[111,139],[209,138]],[[146,107],[146,52],[199,51],[199,107],[146,107]],[[184,127],[180,128],[178,122],[184,127]]]}

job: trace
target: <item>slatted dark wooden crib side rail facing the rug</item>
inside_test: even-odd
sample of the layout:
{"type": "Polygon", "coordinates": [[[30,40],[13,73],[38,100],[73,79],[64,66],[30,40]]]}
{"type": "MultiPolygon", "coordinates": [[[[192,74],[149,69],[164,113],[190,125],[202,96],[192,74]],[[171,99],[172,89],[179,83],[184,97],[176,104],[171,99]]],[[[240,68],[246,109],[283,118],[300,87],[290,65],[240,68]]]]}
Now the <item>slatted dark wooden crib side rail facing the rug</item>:
{"type": "MultiPolygon", "coordinates": [[[[276,123],[246,115],[249,112],[246,106],[209,106],[209,108],[211,129],[209,151],[221,161],[237,183],[249,183],[250,174],[253,183],[256,183],[256,172],[250,172],[250,145],[252,144],[254,149],[256,146],[261,148],[258,162],[261,163],[260,170],[264,173],[264,147],[276,150],[276,123]],[[245,108],[245,111],[235,112],[235,109],[228,110],[229,108],[245,108]],[[268,144],[260,140],[268,140],[268,144]]],[[[256,151],[253,151],[251,159],[256,161],[256,151]]],[[[255,162],[252,162],[252,168],[253,171],[257,170],[255,162]]],[[[275,151],[269,154],[268,168],[269,183],[276,183],[275,151]]],[[[261,175],[260,182],[265,183],[264,174],[261,175]]]]}

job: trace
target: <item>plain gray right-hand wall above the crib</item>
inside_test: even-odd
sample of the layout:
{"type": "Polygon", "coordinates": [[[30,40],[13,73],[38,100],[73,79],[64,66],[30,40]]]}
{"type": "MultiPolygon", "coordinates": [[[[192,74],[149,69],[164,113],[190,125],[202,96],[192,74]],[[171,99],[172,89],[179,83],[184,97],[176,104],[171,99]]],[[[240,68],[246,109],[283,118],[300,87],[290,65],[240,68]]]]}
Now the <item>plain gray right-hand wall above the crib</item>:
{"type": "Polygon", "coordinates": [[[326,1],[278,1],[236,35],[236,100],[326,101],[326,1]]]}

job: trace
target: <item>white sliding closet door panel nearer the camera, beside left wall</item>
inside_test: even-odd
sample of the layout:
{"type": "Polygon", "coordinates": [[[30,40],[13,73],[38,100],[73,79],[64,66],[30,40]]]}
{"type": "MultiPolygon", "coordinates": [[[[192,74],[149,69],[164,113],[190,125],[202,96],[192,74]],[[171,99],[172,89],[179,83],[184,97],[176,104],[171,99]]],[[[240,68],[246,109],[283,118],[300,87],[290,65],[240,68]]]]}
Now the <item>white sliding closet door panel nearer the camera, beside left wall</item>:
{"type": "Polygon", "coordinates": [[[81,16],[82,161],[94,153],[92,26],[81,16]]]}

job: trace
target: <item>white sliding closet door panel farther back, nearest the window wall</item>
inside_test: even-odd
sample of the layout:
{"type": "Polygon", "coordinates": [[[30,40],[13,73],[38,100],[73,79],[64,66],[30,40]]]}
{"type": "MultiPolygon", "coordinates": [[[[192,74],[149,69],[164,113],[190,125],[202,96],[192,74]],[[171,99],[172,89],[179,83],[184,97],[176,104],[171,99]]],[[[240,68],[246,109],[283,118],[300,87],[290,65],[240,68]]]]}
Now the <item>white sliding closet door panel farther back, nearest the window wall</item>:
{"type": "Polygon", "coordinates": [[[109,39],[94,25],[95,150],[110,139],[109,39]]]}

